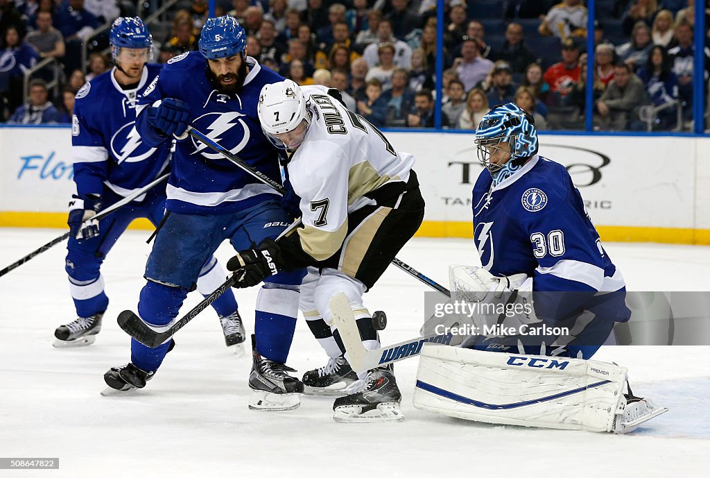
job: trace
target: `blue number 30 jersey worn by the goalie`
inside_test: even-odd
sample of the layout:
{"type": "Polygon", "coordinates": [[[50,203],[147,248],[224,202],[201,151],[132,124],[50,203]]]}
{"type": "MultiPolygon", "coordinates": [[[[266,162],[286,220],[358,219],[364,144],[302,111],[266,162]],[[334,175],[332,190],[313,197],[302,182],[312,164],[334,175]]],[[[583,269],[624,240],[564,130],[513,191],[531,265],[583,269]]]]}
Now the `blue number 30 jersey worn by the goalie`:
{"type": "Polygon", "coordinates": [[[484,170],[472,204],[482,266],[494,276],[531,277],[538,315],[559,321],[586,309],[606,320],[628,320],[621,272],[563,165],[534,156],[495,187],[484,170]],[[604,294],[611,292],[617,293],[604,294]]]}

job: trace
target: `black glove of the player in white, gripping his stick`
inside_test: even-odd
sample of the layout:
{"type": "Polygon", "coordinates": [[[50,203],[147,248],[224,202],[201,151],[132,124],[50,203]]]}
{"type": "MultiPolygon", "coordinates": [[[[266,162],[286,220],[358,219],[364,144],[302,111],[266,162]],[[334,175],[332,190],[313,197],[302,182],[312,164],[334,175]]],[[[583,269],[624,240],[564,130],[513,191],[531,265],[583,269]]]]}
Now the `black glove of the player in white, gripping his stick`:
{"type": "Polygon", "coordinates": [[[266,239],[258,249],[239,251],[226,263],[226,268],[234,272],[236,282],[233,287],[236,288],[256,286],[278,274],[282,267],[281,249],[273,239],[266,239]]]}

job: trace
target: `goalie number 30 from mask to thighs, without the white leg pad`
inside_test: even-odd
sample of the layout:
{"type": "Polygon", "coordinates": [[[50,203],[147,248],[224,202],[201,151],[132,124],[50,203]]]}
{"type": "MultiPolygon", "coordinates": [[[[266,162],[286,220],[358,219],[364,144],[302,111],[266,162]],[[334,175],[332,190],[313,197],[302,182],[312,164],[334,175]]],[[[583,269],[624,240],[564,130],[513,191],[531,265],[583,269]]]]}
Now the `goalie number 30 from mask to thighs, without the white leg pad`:
{"type": "Polygon", "coordinates": [[[601,246],[579,190],[563,165],[537,154],[535,122],[516,104],[484,116],[476,146],[485,166],[472,202],[483,268],[458,268],[454,278],[482,284],[486,291],[518,290],[518,300],[528,300],[534,310],[519,316],[516,325],[571,331],[533,339],[495,337],[476,347],[505,351],[517,349],[520,340],[527,353],[539,353],[545,342],[550,354],[591,357],[614,323],[626,322],[630,312],[621,272],[601,246]]]}

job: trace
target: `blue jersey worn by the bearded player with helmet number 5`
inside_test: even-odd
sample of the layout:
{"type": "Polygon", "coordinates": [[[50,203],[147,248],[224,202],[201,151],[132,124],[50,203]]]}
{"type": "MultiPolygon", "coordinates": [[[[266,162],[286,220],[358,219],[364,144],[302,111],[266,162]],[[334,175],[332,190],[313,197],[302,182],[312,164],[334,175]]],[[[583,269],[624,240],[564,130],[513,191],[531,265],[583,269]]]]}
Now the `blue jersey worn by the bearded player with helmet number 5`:
{"type": "MultiPolygon", "coordinates": [[[[160,76],[144,90],[138,113],[138,131],[153,145],[165,136],[148,124],[148,106],[163,98],[190,105],[190,124],[235,153],[269,178],[280,178],[278,150],[261,131],[256,113],[261,87],[283,81],[272,70],[246,58],[249,74],[236,94],[221,94],[205,75],[207,64],[199,52],[168,61],[160,76]]],[[[280,195],[245,173],[204,144],[188,137],[175,146],[173,167],[166,189],[166,209],[182,214],[226,214],[280,195]]]]}

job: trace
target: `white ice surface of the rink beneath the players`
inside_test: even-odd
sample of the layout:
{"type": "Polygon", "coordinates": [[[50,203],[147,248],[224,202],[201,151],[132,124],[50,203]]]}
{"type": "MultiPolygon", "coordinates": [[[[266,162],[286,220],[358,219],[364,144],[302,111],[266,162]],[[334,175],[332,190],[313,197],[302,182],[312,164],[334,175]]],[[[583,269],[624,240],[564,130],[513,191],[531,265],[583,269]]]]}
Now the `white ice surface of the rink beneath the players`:
{"type": "MultiPolygon", "coordinates": [[[[57,229],[0,229],[0,267],[57,237],[57,229]]],[[[148,232],[128,232],[104,264],[111,305],[96,343],[51,347],[74,318],[64,245],[0,278],[0,457],[59,457],[59,470],[0,470],[6,477],[704,477],[710,465],[710,347],[608,347],[595,359],[630,370],[634,391],[671,411],[632,435],[493,426],[412,406],[417,359],[395,366],[403,423],[349,425],[332,399],[304,397],[283,413],[249,411],[249,357],[225,347],[212,309],[176,335],[155,379],[131,396],[99,396],[102,376],[129,360],[116,315],[136,309],[148,232]]],[[[632,290],[708,290],[710,248],[605,244],[632,290]]],[[[217,256],[224,262],[228,246],[217,256]]],[[[399,255],[440,283],[447,264],[476,263],[463,240],[417,239],[399,255]]],[[[391,267],[371,293],[383,342],[417,335],[425,286],[391,267]]],[[[256,290],[239,291],[253,330],[256,290]]],[[[200,300],[187,299],[183,312],[200,300]]],[[[289,364],[300,373],[325,355],[299,321],[289,364]]]]}

